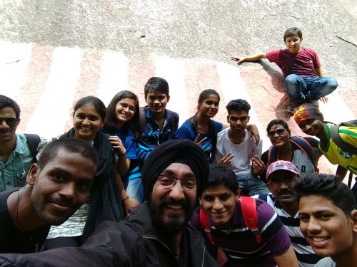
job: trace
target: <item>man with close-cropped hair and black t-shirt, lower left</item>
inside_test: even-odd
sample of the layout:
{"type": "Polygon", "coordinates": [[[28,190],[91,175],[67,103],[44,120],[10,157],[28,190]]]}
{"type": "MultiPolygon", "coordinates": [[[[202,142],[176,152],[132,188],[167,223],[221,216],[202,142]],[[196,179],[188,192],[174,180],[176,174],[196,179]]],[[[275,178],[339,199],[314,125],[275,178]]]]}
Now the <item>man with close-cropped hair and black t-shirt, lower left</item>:
{"type": "Polygon", "coordinates": [[[62,224],[89,196],[98,157],[83,140],[47,145],[22,188],[0,193],[0,253],[41,249],[51,225],[62,224]]]}

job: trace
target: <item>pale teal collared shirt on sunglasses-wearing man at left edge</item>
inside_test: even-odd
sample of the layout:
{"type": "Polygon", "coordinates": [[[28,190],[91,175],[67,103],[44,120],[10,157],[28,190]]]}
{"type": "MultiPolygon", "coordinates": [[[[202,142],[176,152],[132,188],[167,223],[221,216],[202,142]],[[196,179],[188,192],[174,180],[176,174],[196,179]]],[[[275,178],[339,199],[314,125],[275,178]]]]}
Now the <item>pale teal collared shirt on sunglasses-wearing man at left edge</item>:
{"type": "Polygon", "coordinates": [[[0,192],[14,187],[23,187],[33,162],[26,136],[16,133],[16,147],[6,163],[0,156],[0,192]]]}

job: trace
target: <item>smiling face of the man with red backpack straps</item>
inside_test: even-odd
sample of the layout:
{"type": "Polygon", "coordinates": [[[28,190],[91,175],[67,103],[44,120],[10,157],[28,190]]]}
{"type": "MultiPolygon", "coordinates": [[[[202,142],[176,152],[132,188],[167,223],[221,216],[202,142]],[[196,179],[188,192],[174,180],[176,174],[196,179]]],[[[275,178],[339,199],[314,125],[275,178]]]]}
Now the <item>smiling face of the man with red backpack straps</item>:
{"type": "Polygon", "coordinates": [[[231,189],[219,184],[203,191],[200,205],[214,224],[224,227],[232,221],[238,199],[239,192],[234,194],[231,189]]]}

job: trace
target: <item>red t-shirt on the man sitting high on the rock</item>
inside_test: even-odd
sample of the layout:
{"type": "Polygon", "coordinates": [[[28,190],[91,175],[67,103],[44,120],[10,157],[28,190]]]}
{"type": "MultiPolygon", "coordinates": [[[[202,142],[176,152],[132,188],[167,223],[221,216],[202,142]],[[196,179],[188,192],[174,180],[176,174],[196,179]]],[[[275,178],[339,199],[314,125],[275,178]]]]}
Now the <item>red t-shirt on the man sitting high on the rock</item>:
{"type": "Polygon", "coordinates": [[[266,58],[268,58],[268,61],[276,63],[283,70],[285,77],[289,74],[318,77],[316,68],[320,67],[320,60],[311,48],[303,47],[296,54],[290,53],[288,49],[268,51],[266,58]]]}

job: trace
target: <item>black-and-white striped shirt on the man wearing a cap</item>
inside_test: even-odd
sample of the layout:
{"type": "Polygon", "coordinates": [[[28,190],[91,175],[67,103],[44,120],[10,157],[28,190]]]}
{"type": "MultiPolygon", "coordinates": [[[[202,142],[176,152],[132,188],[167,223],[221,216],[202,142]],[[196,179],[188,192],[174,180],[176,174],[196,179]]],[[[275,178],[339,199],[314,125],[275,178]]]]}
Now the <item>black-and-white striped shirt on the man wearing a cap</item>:
{"type": "Polygon", "coordinates": [[[299,265],[303,267],[315,266],[315,264],[321,260],[321,257],[316,256],[311,246],[309,246],[308,242],[304,239],[303,233],[301,233],[300,230],[300,218],[298,216],[298,212],[295,216],[290,216],[290,214],[283,210],[278,200],[275,199],[271,193],[259,194],[254,197],[266,201],[273,207],[276,214],[280,217],[286,231],[288,231],[288,235],[290,237],[291,244],[293,245],[293,250],[296,253],[296,258],[298,258],[299,265]]]}

